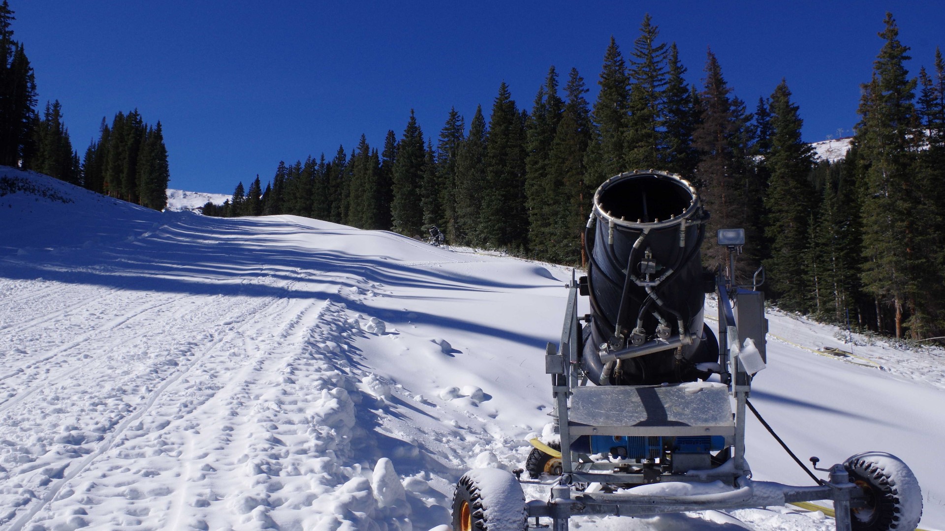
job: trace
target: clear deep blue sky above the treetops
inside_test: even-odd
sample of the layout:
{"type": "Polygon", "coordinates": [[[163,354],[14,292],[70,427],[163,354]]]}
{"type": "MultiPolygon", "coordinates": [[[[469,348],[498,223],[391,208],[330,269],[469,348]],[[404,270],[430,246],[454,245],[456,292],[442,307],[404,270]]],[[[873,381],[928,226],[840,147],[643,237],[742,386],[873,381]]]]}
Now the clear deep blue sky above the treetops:
{"type": "Polygon", "coordinates": [[[646,12],[690,82],[711,47],[749,110],[785,77],[810,142],[851,134],[886,10],[913,76],[945,47],[936,1],[9,3],[40,107],[60,100],[80,155],[103,116],[137,108],[163,124],[172,188],[226,194],[362,133],[381,146],[411,108],[434,138],[452,106],[488,117],[503,80],[530,109],[550,65],[562,85],[576,67],[593,102],[610,35],[626,57],[646,12]]]}

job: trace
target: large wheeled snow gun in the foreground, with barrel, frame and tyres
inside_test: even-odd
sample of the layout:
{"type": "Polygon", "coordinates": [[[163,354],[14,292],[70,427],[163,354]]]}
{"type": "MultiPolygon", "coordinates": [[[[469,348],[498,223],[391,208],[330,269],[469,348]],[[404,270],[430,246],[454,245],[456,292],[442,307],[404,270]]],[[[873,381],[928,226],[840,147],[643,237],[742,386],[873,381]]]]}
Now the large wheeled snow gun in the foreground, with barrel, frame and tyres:
{"type": "Polygon", "coordinates": [[[757,282],[734,283],[741,229],[716,233],[728,268],[703,269],[708,219],[696,188],[678,175],[632,171],[600,185],[585,232],[588,274],[568,285],[561,341],[545,352],[559,440],[532,439],[524,470],[463,474],[455,531],[566,531],[572,516],[816,500],[833,501],[839,531],[916,528],[921,491],[899,458],[856,454],[821,469],[812,457],[828,474],[821,479],[748,401],[766,362],[764,294],[757,282]],[[704,322],[707,293],[717,300],[717,339],[704,322]],[[590,314],[578,315],[579,296],[589,298],[590,314]],[[748,410],[815,485],[751,479],[748,410]],[[526,503],[522,484],[548,495],[526,503]]]}

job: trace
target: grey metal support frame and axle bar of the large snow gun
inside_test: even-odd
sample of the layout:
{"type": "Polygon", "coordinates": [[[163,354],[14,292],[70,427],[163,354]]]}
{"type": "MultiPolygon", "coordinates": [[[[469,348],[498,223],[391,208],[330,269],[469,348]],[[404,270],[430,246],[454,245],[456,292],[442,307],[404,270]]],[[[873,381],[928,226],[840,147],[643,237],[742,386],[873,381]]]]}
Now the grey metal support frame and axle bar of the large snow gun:
{"type": "MultiPolygon", "coordinates": [[[[795,502],[833,500],[838,531],[851,530],[851,507],[863,506],[866,496],[851,483],[843,465],[830,469],[830,480],[816,487],[793,487],[778,483],[755,482],[749,478],[745,461],[745,422],[747,396],[751,390],[751,375],[739,354],[739,338],[752,336],[756,343],[765,340],[764,304],[761,293],[734,287],[726,279],[718,278],[720,378],[726,385],[702,388],[683,403],[680,393],[684,386],[626,386],[582,385],[578,372],[580,355],[580,328],[577,316],[576,283],[569,286],[561,342],[558,349],[549,345],[545,356],[545,371],[552,378],[552,395],[556,406],[558,432],[561,436],[561,475],[552,486],[548,500],[533,500],[526,504],[529,518],[551,518],[554,531],[566,531],[568,520],[581,515],[642,516],[680,511],[708,509],[736,509],[766,505],[785,505],[795,502]],[[735,307],[732,306],[735,301],[735,307]],[[740,312],[738,310],[741,310],[740,312]],[[761,312],[761,315],[759,315],[761,312]],[[748,314],[752,315],[748,315],[748,314]],[[738,326],[739,317],[747,324],[738,326]],[[701,400],[694,400],[693,397],[701,400]],[[735,411],[731,411],[730,398],[735,411]],[[682,411],[673,411],[682,406],[682,411]],[[707,414],[705,409],[711,411],[707,414]],[[598,409],[605,408],[605,409],[598,409]],[[703,411],[699,411],[702,409],[703,411]],[[721,413],[720,413],[721,412],[721,413]],[[733,414],[733,415],[732,415],[733,414]],[[728,417],[726,419],[725,417],[728,417]],[[698,423],[697,420],[707,420],[698,423]],[[587,424],[587,420],[600,420],[587,424]],[[615,420],[624,420],[614,425],[615,420]],[[728,420],[728,421],[726,421],[728,420]],[[611,462],[593,462],[590,455],[572,451],[576,439],[584,436],[614,437],[692,437],[696,435],[721,436],[726,439],[730,459],[710,470],[684,473],[658,473],[654,469],[631,472],[614,471],[611,462]],[[570,458],[565,456],[570,455],[570,458]],[[660,479],[673,482],[707,482],[721,480],[731,486],[730,491],[688,496],[646,495],[634,493],[582,492],[581,484],[599,483],[618,487],[632,487],[660,479]]],[[[537,520],[536,520],[537,522],[537,520]]]]}

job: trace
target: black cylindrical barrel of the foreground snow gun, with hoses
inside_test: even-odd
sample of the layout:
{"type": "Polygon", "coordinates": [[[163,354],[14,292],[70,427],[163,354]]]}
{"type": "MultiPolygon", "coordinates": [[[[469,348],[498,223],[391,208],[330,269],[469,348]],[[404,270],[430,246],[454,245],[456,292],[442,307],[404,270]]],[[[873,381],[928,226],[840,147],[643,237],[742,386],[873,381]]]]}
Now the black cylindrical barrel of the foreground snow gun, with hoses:
{"type": "Polygon", "coordinates": [[[699,248],[709,214],[696,188],[655,170],[622,173],[593,197],[591,337],[583,363],[598,385],[651,385],[696,379],[695,365],[717,361],[705,333],[705,282],[699,248]],[[666,349],[654,350],[665,344],[666,349]]]}

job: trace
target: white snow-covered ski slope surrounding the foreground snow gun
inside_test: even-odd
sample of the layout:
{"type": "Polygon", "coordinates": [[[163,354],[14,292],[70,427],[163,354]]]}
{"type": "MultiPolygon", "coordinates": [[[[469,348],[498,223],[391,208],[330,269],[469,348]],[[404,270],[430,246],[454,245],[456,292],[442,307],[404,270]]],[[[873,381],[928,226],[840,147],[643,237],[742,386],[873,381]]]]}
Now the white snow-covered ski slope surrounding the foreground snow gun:
{"type": "MultiPolygon", "coordinates": [[[[570,269],[0,177],[18,183],[0,197],[0,530],[441,530],[465,471],[521,467],[550,433],[544,345],[570,269]]],[[[899,456],[919,526],[945,529],[945,353],[767,317],[751,396],[765,419],[821,466],[899,456]]],[[[757,481],[811,485],[754,420],[747,459],[757,481]]],[[[833,520],[789,505],[572,527],[833,520]]]]}

